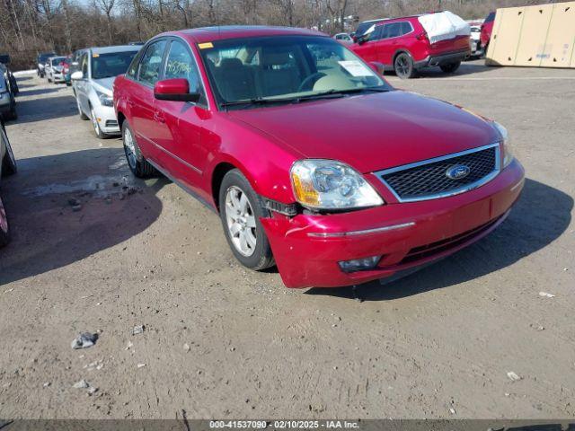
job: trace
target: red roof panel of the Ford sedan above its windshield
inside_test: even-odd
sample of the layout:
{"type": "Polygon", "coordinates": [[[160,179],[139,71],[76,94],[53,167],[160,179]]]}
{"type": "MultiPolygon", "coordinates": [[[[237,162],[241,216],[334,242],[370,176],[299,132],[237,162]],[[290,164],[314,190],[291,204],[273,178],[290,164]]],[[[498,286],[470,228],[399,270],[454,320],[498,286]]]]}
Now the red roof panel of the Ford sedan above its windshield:
{"type": "Polygon", "coordinates": [[[198,29],[169,31],[158,36],[180,36],[192,43],[202,43],[214,40],[284,35],[329,37],[320,31],[296,29],[292,27],[272,27],[267,25],[222,25],[217,27],[200,27],[198,29]]]}

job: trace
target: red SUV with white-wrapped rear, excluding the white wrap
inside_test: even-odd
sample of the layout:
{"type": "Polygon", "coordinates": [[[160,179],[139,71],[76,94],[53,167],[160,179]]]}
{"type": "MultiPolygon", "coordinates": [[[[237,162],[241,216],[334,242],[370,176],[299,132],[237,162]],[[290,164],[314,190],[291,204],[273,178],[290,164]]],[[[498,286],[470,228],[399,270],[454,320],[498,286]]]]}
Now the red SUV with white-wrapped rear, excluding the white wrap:
{"type": "Polygon", "coordinates": [[[420,22],[420,17],[426,15],[378,22],[373,31],[349,48],[366,61],[382,63],[403,79],[414,77],[418,69],[427,66],[439,66],[444,72],[453,73],[471,55],[469,32],[431,43],[420,22]]]}

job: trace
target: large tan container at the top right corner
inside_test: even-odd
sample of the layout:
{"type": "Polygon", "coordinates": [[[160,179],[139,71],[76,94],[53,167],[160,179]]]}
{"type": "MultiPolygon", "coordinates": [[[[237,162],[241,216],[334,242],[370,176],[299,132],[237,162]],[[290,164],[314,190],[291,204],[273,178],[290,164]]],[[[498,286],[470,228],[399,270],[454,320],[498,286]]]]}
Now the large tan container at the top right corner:
{"type": "Polygon", "coordinates": [[[497,10],[485,63],[575,67],[575,2],[497,10]]]}

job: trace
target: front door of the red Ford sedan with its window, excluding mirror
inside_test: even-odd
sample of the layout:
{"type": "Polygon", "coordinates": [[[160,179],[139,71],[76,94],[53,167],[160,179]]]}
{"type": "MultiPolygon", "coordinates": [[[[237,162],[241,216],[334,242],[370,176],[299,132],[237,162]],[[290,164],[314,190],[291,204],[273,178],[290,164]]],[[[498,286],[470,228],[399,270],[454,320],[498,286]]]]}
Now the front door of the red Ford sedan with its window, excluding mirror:
{"type": "Polygon", "coordinates": [[[159,131],[157,144],[164,153],[158,156],[176,180],[201,194],[201,174],[208,160],[206,148],[201,145],[204,124],[208,119],[208,101],[199,78],[198,63],[184,40],[170,40],[163,78],[186,79],[190,92],[201,94],[197,103],[155,101],[155,127],[159,131]]]}

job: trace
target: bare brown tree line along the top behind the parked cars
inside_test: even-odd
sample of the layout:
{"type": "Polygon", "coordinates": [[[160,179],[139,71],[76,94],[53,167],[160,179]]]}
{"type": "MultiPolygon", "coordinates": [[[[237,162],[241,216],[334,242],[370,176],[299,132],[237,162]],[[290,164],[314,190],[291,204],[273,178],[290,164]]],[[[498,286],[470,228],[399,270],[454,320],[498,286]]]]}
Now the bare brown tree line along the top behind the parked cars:
{"type": "Polygon", "coordinates": [[[548,0],[0,0],[0,53],[13,70],[40,52],[145,41],[162,31],[228,24],[353,31],[359,21],[450,10],[483,18],[497,7],[548,0]]]}

